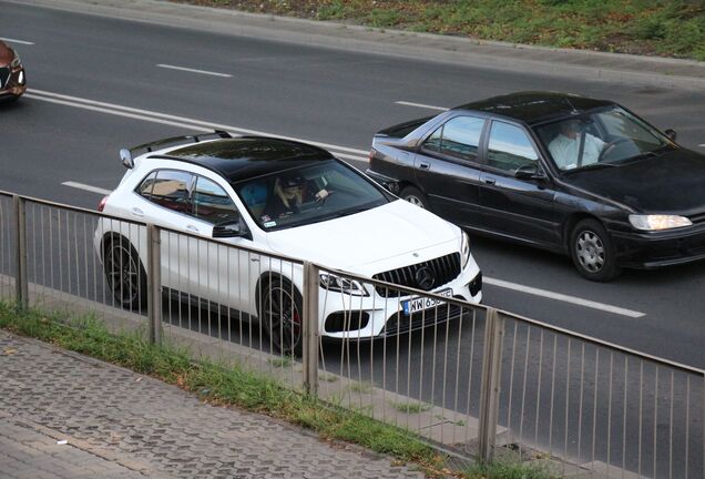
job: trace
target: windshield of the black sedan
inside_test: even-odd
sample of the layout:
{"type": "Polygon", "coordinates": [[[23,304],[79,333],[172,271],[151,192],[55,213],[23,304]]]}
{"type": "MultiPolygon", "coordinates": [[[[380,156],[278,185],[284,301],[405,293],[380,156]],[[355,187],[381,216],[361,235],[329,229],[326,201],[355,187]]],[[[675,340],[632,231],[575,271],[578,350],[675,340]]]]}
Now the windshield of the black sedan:
{"type": "Polygon", "coordinates": [[[673,144],[620,106],[539,126],[537,133],[561,171],[597,163],[617,165],[673,144]]]}

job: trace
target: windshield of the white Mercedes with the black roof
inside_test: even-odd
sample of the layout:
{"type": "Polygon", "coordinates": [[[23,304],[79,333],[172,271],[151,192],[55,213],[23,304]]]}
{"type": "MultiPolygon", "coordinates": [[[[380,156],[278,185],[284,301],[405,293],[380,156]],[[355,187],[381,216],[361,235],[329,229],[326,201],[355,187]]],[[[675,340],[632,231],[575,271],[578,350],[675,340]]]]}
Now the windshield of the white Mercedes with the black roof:
{"type": "Polygon", "coordinates": [[[370,181],[336,160],[258,176],[233,187],[264,231],[318,223],[390,201],[370,181]]]}

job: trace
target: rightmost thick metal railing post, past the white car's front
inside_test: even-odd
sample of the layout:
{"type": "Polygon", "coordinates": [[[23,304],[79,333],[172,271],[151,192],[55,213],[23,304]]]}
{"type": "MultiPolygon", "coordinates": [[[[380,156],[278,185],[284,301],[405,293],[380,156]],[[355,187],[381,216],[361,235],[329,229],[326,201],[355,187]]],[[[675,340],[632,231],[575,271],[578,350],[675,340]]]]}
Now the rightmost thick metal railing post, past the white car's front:
{"type": "Polygon", "coordinates": [[[484,462],[492,460],[497,445],[503,339],[504,318],[497,314],[497,309],[488,308],[484,322],[484,358],[482,360],[478,431],[478,452],[484,462]]]}

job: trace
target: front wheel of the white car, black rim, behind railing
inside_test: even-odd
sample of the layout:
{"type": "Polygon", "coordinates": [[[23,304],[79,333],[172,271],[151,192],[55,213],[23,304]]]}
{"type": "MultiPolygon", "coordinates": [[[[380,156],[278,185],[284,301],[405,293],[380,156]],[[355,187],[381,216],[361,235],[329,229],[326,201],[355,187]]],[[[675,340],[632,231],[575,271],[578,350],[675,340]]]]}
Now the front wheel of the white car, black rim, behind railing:
{"type": "Polygon", "coordinates": [[[262,291],[263,326],[282,355],[303,355],[303,303],[300,293],[287,279],[274,278],[262,291]]]}

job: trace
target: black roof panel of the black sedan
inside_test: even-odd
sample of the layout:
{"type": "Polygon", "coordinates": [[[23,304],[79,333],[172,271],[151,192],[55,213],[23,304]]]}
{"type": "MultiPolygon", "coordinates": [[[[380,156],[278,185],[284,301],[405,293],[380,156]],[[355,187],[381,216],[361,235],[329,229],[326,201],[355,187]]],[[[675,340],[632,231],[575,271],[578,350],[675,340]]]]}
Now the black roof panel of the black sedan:
{"type": "Polygon", "coordinates": [[[453,110],[481,111],[531,125],[613,104],[611,101],[570,93],[518,92],[466,103],[453,110]]]}

